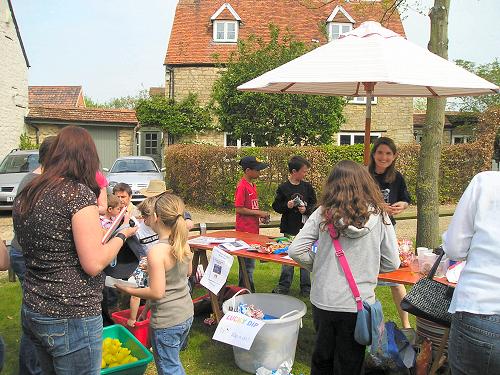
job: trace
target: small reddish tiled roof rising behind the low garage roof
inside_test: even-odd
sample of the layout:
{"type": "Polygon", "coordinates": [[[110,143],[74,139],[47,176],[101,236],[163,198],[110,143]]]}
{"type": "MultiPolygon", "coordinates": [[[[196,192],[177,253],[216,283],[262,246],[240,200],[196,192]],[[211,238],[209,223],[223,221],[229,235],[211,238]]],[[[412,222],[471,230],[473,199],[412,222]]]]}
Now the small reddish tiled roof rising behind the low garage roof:
{"type": "Polygon", "coordinates": [[[29,86],[28,106],[85,107],[82,86],[29,86]]]}

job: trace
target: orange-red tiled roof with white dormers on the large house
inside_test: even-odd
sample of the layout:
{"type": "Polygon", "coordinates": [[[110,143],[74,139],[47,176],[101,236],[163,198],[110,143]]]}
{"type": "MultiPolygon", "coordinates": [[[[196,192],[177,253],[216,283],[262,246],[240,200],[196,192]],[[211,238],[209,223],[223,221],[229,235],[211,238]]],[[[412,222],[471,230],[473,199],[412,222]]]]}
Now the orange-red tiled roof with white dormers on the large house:
{"type": "MultiPolygon", "coordinates": [[[[357,25],[364,21],[380,21],[385,13],[384,2],[333,1],[327,5],[321,0],[179,0],[170,33],[166,65],[213,64],[214,54],[221,62],[228,60],[236,50],[235,43],[214,43],[210,17],[228,2],[241,17],[239,38],[255,34],[264,39],[269,36],[269,24],[277,25],[284,33],[287,27],[303,41],[317,39],[326,42],[320,23],[326,22],[337,5],[342,6],[357,25]],[[315,8],[301,3],[315,4],[315,8]]],[[[225,11],[223,12],[225,13],[225,11]]],[[[340,13],[340,12],[339,12],[340,13]]],[[[338,15],[338,14],[337,14],[338,15]]],[[[340,18],[340,16],[339,16],[340,18]]],[[[337,21],[337,19],[336,19],[337,21]]],[[[399,13],[395,13],[385,27],[405,35],[399,13]]]]}

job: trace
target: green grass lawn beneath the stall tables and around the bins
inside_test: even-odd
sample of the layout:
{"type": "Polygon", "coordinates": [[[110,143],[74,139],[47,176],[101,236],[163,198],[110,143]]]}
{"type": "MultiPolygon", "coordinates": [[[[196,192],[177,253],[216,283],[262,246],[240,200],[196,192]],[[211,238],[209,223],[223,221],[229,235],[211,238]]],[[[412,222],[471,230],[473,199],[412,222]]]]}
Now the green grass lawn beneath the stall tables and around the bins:
{"type": "MultiPolygon", "coordinates": [[[[256,289],[261,292],[270,292],[277,283],[281,266],[275,263],[258,263],[255,269],[254,279],[256,289]]],[[[299,297],[298,272],[294,277],[292,296],[302,299],[307,305],[307,314],[303,319],[303,328],[300,330],[293,367],[294,374],[309,374],[309,362],[314,344],[314,329],[311,317],[311,304],[309,300],[299,297]]],[[[237,262],[233,264],[229,276],[229,284],[237,284],[238,267],[237,262]]],[[[11,375],[18,373],[18,351],[20,337],[19,308],[21,304],[21,288],[19,283],[8,282],[6,278],[0,279],[0,333],[6,344],[6,362],[3,374],[11,375]]],[[[195,290],[195,296],[204,294],[205,290],[195,290]]],[[[392,302],[389,287],[379,287],[376,290],[377,297],[382,302],[386,321],[392,320],[399,325],[399,317],[396,307],[392,302]]],[[[189,346],[181,353],[182,363],[187,374],[246,374],[236,367],[232,348],[226,344],[212,340],[215,326],[208,327],[203,324],[204,317],[196,317],[191,328],[189,346]]],[[[414,326],[415,321],[412,321],[414,326]]],[[[154,364],[150,364],[146,374],[156,374],[154,364]]]]}

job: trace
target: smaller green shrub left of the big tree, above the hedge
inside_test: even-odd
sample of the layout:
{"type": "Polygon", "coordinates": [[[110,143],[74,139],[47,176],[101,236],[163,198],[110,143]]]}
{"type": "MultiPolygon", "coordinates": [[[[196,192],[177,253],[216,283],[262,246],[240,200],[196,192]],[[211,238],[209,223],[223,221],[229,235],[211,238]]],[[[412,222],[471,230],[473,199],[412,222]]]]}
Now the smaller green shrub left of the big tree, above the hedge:
{"type": "Polygon", "coordinates": [[[160,128],[174,137],[213,128],[209,109],[200,106],[195,94],[179,102],[163,96],[139,99],[135,111],[142,125],[160,128]]]}

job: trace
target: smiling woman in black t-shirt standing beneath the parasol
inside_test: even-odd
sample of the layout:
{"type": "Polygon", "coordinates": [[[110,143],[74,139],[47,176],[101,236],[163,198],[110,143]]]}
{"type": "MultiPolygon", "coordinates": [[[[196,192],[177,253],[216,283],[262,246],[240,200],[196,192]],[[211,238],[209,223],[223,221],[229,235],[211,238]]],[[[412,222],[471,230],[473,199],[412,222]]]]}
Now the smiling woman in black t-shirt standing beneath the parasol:
{"type": "MultiPolygon", "coordinates": [[[[397,149],[394,141],[387,137],[378,138],[373,144],[370,153],[370,164],[368,170],[380,186],[380,190],[387,203],[386,210],[390,215],[393,225],[396,225],[394,215],[408,208],[411,203],[406,182],[401,173],[396,170],[397,149]]],[[[380,283],[391,287],[392,299],[398,309],[403,328],[410,328],[408,313],[400,307],[401,300],[406,295],[406,289],[402,284],[380,283]]]]}

